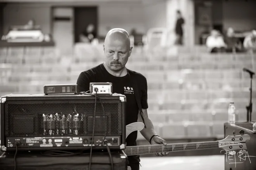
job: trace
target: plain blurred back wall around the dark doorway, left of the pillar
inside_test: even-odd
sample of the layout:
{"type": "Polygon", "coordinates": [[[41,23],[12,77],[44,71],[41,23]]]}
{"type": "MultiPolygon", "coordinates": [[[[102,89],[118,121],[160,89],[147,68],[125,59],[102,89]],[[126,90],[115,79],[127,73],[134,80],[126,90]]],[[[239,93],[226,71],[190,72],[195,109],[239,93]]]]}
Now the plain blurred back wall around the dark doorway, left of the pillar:
{"type": "Polygon", "coordinates": [[[24,25],[31,17],[42,27],[45,34],[51,32],[52,6],[98,6],[99,35],[105,36],[114,27],[128,32],[136,28],[146,33],[150,27],[165,27],[165,3],[143,4],[141,2],[76,2],[76,3],[9,3],[4,8],[4,34],[9,26],[24,25]],[[144,7],[145,6],[145,7],[144,7]]]}

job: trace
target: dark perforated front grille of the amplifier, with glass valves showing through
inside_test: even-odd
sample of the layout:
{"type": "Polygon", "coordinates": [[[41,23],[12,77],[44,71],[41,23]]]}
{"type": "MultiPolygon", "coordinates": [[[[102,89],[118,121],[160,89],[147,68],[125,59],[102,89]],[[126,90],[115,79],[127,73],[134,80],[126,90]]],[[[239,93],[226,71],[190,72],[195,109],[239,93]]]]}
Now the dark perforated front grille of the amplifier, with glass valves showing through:
{"type": "MultiPolygon", "coordinates": [[[[93,100],[8,101],[5,103],[5,136],[92,136],[93,100]]],[[[99,101],[95,136],[121,135],[122,105],[119,100],[99,101]],[[105,120],[107,128],[105,128],[105,120]]]]}

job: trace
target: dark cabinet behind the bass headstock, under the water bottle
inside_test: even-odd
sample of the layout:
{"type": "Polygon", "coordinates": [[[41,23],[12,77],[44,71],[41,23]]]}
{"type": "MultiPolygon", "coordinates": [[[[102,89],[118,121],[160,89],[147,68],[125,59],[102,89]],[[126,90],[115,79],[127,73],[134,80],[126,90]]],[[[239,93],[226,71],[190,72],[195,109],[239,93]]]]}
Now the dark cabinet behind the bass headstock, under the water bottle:
{"type": "Polygon", "coordinates": [[[224,124],[225,137],[234,136],[234,130],[235,135],[240,135],[239,132],[243,130],[244,134],[251,136],[251,139],[246,141],[246,150],[235,150],[235,155],[229,151],[221,152],[225,153],[225,170],[256,170],[256,132],[253,132],[253,123],[224,124]]]}

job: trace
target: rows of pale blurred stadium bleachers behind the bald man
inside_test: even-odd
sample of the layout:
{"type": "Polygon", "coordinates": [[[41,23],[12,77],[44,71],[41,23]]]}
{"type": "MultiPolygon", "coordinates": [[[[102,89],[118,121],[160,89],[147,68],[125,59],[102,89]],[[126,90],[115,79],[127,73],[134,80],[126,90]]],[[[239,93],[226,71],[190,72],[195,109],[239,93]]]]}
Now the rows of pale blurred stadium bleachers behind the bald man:
{"type": "MultiPolygon", "coordinates": [[[[201,46],[176,51],[178,55],[135,47],[127,63],[147,78],[148,113],[157,133],[164,139],[223,138],[230,101],[238,120],[246,121],[250,79],[242,68],[253,70],[256,55],[208,54],[201,46]]],[[[43,93],[45,84],[76,83],[81,71],[103,59],[101,45],[76,48],[73,56],[61,56],[55,48],[1,48],[0,96],[43,93]]],[[[253,90],[254,100],[255,79],[253,90]]]]}

